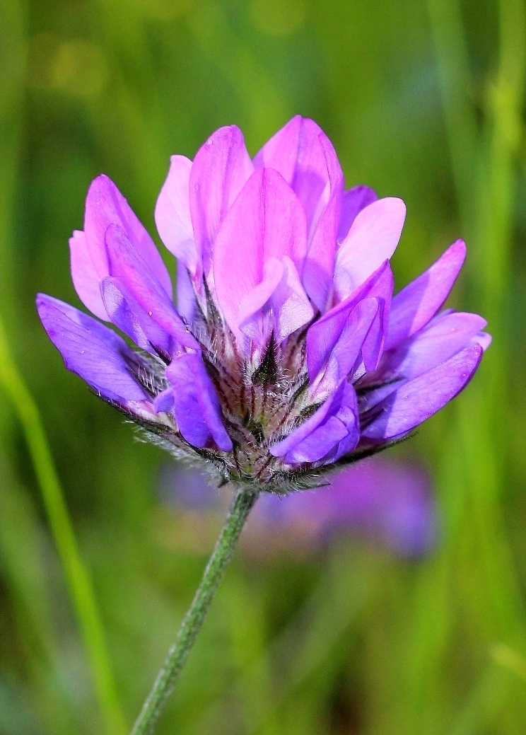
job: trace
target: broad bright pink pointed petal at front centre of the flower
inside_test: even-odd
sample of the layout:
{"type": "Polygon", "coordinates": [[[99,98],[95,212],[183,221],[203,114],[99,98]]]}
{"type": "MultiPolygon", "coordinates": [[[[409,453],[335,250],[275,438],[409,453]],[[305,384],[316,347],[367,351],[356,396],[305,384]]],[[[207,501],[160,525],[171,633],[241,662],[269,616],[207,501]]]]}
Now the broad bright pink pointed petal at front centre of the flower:
{"type": "Polygon", "coordinates": [[[256,171],[226,215],[215,242],[217,303],[234,333],[239,304],[262,283],[264,263],[284,256],[302,262],[305,251],[305,215],[297,196],[277,171],[256,171]]]}

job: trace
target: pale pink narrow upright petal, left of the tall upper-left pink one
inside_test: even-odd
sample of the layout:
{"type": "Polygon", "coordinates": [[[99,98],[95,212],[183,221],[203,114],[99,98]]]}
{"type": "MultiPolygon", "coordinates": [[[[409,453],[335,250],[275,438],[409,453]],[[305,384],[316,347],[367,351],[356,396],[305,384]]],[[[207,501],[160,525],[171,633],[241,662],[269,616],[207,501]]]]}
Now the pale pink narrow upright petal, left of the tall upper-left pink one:
{"type": "Polygon", "coordinates": [[[186,156],[170,158],[170,171],[155,205],[155,223],[170,253],[195,275],[198,254],[190,215],[191,169],[192,161],[186,156]]]}

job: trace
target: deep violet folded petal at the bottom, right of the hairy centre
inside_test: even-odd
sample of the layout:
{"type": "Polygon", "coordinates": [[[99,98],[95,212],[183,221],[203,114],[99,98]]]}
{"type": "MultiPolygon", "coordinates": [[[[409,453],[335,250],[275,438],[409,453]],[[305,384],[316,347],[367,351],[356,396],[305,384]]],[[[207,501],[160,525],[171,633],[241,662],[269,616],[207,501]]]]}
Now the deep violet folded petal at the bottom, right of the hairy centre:
{"type": "Polygon", "coordinates": [[[269,451],[275,457],[284,456],[290,465],[320,462],[329,455],[334,462],[356,447],[359,435],[356,392],[344,382],[314,415],[269,451]]]}

